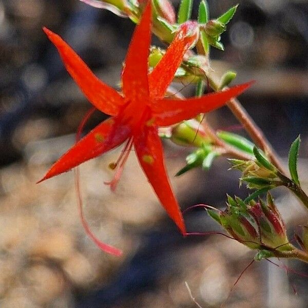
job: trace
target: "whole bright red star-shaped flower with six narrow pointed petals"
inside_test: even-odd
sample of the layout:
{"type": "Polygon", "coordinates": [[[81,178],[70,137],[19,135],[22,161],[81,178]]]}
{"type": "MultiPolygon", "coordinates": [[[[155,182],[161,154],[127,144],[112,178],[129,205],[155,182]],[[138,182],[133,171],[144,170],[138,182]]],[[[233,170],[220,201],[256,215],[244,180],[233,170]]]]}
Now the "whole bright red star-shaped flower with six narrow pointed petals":
{"type": "Polygon", "coordinates": [[[41,181],[68,171],[126,141],[125,149],[117,163],[117,171],[109,183],[111,189],[115,188],[133,146],[159,200],[170,218],[185,234],[183,217],[166,175],[163,148],[157,133],[158,126],[176,124],[201,112],[221,107],[243,92],[250,83],[202,98],[164,99],[167,86],[174,78],[185,52],[197,40],[198,28],[196,22],[181,25],[164,57],[148,74],[151,14],[151,5],[148,4],[133,33],[122,73],[123,95],[100,81],[60,36],[44,28],[58,49],[67,71],[87,99],[111,117],[71,147],[41,181]]]}

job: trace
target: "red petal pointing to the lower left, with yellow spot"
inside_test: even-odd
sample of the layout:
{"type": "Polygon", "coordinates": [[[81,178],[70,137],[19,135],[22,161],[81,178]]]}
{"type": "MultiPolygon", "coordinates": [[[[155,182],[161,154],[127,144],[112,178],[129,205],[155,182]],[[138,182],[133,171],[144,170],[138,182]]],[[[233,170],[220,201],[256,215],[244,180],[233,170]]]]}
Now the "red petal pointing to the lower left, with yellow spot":
{"type": "Polygon", "coordinates": [[[130,134],[130,128],[121,125],[119,122],[120,119],[118,118],[110,118],[91,130],[55,162],[45,177],[38,183],[68,171],[123,143],[130,134]]]}

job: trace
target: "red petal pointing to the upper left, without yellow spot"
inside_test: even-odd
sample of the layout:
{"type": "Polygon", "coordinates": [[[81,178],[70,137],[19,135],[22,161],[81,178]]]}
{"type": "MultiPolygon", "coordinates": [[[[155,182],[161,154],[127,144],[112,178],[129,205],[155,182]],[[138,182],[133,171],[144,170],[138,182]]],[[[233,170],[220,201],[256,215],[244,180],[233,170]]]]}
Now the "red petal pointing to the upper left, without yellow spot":
{"type": "Polygon", "coordinates": [[[119,107],[124,104],[121,95],[99,80],[59,35],[45,27],[43,30],[59,51],[67,71],[92,105],[104,113],[117,115],[119,107]]]}

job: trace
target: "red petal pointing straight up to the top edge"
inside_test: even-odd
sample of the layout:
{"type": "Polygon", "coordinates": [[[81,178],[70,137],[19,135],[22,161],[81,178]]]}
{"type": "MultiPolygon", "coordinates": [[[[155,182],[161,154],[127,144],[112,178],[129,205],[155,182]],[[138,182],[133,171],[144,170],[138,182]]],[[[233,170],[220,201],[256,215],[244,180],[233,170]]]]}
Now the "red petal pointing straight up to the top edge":
{"type": "Polygon", "coordinates": [[[149,1],[140,23],[136,26],[125,59],[122,74],[126,98],[144,101],[148,98],[148,55],[151,41],[151,2],[149,1]]]}

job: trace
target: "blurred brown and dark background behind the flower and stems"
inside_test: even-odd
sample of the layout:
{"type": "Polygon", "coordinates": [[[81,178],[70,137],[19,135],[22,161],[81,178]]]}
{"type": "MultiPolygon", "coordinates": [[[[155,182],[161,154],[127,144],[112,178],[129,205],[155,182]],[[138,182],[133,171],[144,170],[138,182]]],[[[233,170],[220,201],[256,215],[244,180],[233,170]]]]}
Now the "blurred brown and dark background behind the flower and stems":
{"type": "MultiPolygon", "coordinates": [[[[241,102],[284,161],[301,134],[300,177],[307,191],[308,1],[208,3],[211,17],[240,3],[222,35],[225,51],[211,52],[213,68],[218,73],[236,70],[236,83],[257,80],[241,102]]],[[[198,5],[195,1],[195,18],[198,5]]],[[[0,306],[196,307],[186,281],[202,307],[307,307],[307,278],[267,261],[249,267],[230,293],[254,253],[219,235],[181,237],[133,153],[115,194],[103,182],[111,179],[108,164],[121,148],[81,168],[87,220],[101,240],[123,249],[122,258],[102,253],[85,235],[72,172],[35,184],[73,144],[76,127],[90,108],[42,26],[61,34],[113,87],[133,31],[128,19],[78,0],[0,0],[0,306]]],[[[191,86],[183,90],[193,93],[191,86]]],[[[103,119],[96,112],[87,130],[103,119]]],[[[208,119],[217,129],[237,125],[226,108],[208,119]]],[[[183,209],[197,203],[224,207],[226,192],[247,195],[238,188],[239,174],[227,171],[225,159],[208,172],[193,170],[174,178],[189,149],[164,145],[183,209]]],[[[276,189],[274,195],[292,236],[307,215],[285,190],[276,189]]],[[[185,219],[190,232],[220,230],[204,210],[191,211],[185,219]]],[[[308,273],[306,264],[284,263],[308,273]]]]}

